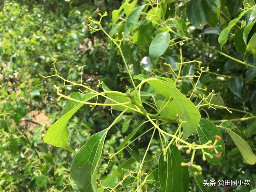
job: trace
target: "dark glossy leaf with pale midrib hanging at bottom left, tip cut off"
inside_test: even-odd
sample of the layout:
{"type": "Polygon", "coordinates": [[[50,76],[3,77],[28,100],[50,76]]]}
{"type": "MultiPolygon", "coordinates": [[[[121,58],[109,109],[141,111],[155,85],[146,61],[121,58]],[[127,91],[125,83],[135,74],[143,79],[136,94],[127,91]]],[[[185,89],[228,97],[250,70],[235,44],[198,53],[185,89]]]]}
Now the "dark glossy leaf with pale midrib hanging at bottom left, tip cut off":
{"type": "Polygon", "coordinates": [[[97,192],[96,168],[108,129],[92,135],[76,153],[70,175],[80,191],[97,192]]]}

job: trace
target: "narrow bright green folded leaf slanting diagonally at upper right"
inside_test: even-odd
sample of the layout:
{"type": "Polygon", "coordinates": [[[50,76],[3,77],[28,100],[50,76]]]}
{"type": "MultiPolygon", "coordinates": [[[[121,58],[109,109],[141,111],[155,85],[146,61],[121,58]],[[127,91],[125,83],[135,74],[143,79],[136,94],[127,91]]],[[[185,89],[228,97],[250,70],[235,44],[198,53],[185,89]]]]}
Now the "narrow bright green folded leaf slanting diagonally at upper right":
{"type": "Polygon", "coordinates": [[[230,21],[228,23],[228,26],[226,28],[224,28],[224,30],[222,30],[222,32],[220,33],[220,36],[218,38],[218,41],[219,41],[219,44],[220,44],[220,50],[222,50],[223,45],[227,42],[228,34],[229,34],[230,30],[234,27],[236,22],[238,22],[240,20],[240,18],[244,14],[246,14],[246,12],[248,12],[248,10],[244,10],[243,12],[241,12],[240,15],[237,18],[235,18],[232,21],[230,21]]]}

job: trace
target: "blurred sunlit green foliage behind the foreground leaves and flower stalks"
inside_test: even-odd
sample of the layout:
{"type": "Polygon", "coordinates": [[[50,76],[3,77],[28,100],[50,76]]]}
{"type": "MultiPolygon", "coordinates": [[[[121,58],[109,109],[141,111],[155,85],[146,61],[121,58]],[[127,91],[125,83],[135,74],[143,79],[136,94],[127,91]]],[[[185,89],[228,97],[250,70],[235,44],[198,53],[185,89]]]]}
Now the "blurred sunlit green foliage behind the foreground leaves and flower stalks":
{"type": "MultiPolygon", "coordinates": [[[[98,80],[103,80],[111,90],[125,92],[126,88],[131,88],[122,58],[114,44],[103,32],[90,34],[86,30],[88,21],[84,19],[84,15],[96,17],[96,8],[102,14],[105,10],[108,12],[109,15],[104,17],[101,24],[111,37],[116,32],[121,37],[124,32],[129,39],[123,42],[122,50],[132,76],[144,74],[145,77],[172,77],[170,68],[164,62],[174,70],[177,69],[175,63],[180,62],[180,47],[176,42],[183,41],[184,61],[202,61],[205,67],[210,68],[198,84],[198,88],[207,87],[207,91],[197,89],[196,94],[208,95],[211,90],[215,90],[218,96],[221,95],[218,104],[228,106],[230,110],[236,109],[230,114],[219,108],[205,108],[200,111],[202,118],[209,118],[208,114],[213,121],[256,115],[256,69],[252,67],[256,66],[256,10],[248,10],[240,15],[243,12],[240,8],[255,6],[253,0],[214,0],[209,6],[200,6],[208,4],[208,1],[198,0],[186,1],[185,4],[172,0],[151,1],[153,6],[159,3],[160,7],[155,11],[148,6],[147,1],[128,2],[130,4],[126,8],[122,7],[126,1],[121,3],[114,0],[0,2],[0,190],[78,190],[77,183],[70,176],[70,166],[75,154],[43,141],[46,130],[64,114],[63,109],[68,102],[64,99],[57,102],[58,96],[52,85],[58,85],[62,94],[66,95],[76,92],[77,88],[64,88],[57,78],[43,79],[39,73],[52,74],[51,60],[58,58],[58,71],[66,79],[79,81],[81,72],[76,65],[86,65],[84,82],[90,83],[95,90],[101,89],[97,86],[98,80]],[[137,14],[129,19],[134,10],[137,10],[137,14]],[[171,31],[157,25],[161,23],[159,18],[167,26],[171,26],[171,31]],[[229,22],[236,18],[237,22],[231,28],[229,22]],[[47,121],[38,122],[40,116],[35,115],[35,111],[46,117],[47,121]]],[[[196,64],[187,64],[181,74],[194,75],[196,71],[196,64]]],[[[189,97],[192,89],[189,80],[182,79],[178,86],[182,94],[189,97]]],[[[99,102],[104,102],[102,98],[99,99],[99,102]]],[[[116,110],[111,110],[110,113],[108,107],[96,106],[92,109],[83,106],[68,122],[70,147],[76,152],[80,150],[91,135],[106,129],[118,114],[120,112],[116,110]]],[[[102,156],[107,157],[108,153],[117,152],[120,143],[138,128],[142,120],[140,114],[122,116],[122,120],[106,135],[102,156]]],[[[234,123],[238,127],[235,132],[255,154],[256,120],[238,120],[234,123]]],[[[134,134],[138,136],[150,127],[146,124],[134,134]]],[[[170,125],[166,130],[172,132],[172,128],[170,125]]],[[[189,138],[190,142],[198,141],[197,134],[195,135],[196,137],[189,138]]],[[[251,186],[216,186],[209,190],[249,192],[256,188],[255,165],[243,163],[242,155],[232,139],[224,132],[222,136],[226,156],[220,165],[204,162],[200,153],[195,156],[196,163],[202,166],[204,178],[214,178],[216,181],[250,180],[251,186]]],[[[107,169],[104,167],[108,160],[100,158],[97,181],[101,179],[102,185],[110,186],[124,176],[120,175],[122,171],[115,171],[118,168],[138,169],[139,164],[135,160],[140,161],[143,157],[150,138],[151,134],[148,132],[136,140],[130,146],[134,153],[124,150],[122,159],[114,158],[107,169]],[[108,180],[110,176],[115,178],[108,180]]],[[[159,138],[155,136],[150,155],[160,153],[159,138]]],[[[187,154],[182,154],[182,157],[190,158],[187,154]]],[[[155,161],[149,160],[146,168],[155,169],[155,161]]],[[[190,175],[188,191],[200,191],[192,177],[193,172],[190,175]]],[[[151,191],[160,190],[159,183],[149,185],[151,191]]]]}

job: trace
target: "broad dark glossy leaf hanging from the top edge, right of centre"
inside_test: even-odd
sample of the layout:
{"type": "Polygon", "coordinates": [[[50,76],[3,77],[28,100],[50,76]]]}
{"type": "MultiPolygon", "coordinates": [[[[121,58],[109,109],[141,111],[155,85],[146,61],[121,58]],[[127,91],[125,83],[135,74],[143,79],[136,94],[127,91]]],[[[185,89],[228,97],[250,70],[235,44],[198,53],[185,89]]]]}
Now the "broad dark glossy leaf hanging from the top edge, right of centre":
{"type": "Polygon", "coordinates": [[[214,28],[220,17],[220,0],[191,0],[185,4],[189,22],[202,29],[205,24],[214,28]]]}

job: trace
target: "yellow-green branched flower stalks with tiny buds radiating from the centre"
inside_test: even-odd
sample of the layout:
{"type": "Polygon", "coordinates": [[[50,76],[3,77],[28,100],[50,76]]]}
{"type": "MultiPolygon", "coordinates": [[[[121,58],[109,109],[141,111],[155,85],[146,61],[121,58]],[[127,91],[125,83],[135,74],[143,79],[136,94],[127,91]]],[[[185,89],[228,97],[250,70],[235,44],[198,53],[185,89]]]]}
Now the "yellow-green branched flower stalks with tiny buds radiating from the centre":
{"type": "MultiPolygon", "coordinates": [[[[148,0],[149,4],[153,7],[153,4],[151,3],[150,0],[148,0]]],[[[157,3],[156,3],[157,4],[157,3]]],[[[154,10],[154,9],[153,9],[154,10]]],[[[136,188],[136,191],[142,191],[143,188],[147,188],[147,173],[144,172],[143,170],[143,164],[146,158],[146,154],[149,151],[150,145],[152,143],[153,137],[156,135],[156,130],[159,133],[159,137],[160,137],[160,143],[162,146],[162,150],[163,150],[163,154],[164,154],[164,161],[167,161],[166,159],[166,151],[170,148],[171,145],[176,145],[178,150],[182,150],[182,149],[186,149],[186,153],[190,154],[192,152],[192,156],[190,158],[189,162],[182,162],[181,166],[188,166],[188,167],[193,167],[197,170],[197,172],[195,172],[195,174],[202,174],[202,167],[197,165],[194,161],[194,157],[196,154],[197,150],[200,150],[202,152],[202,160],[206,160],[206,156],[208,156],[209,158],[213,158],[213,155],[206,152],[205,149],[208,150],[214,150],[215,152],[215,156],[216,157],[220,157],[221,156],[221,152],[218,151],[218,148],[220,147],[220,145],[217,144],[217,142],[219,140],[221,140],[222,138],[220,138],[220,136],[215,136],[215,140],[211,141],[209,140],[208,142],[204,143],[204,144],[196,144],[196,142],[192,142],[189,143],[186,141],[187,138],[183,138],[183,130],[182,127],[183,125],[186,123],[185,121],[182,121],[181,116],[179,114],[176,114],[175,118],[166,118],[165,116],[161,115],[162,110],[164,110],[167,107],[167,104],[170,102],[170,100],[172,99],[172,97],[170,98],[166,98],[164,100],[164,102],[166,102],[164,104],[164,102],[162,103],[162,105],[160,106],[160,108],[157,107],[156,104],[156,100],[154,98],[154,96],[152,97],[153,102],[148,102],[146,100],[142,99],[141,96],[141,89],[143,88],[143,86],[152,80],[158,80],[157,78],[147,78],[147,79],[143,79],[141,80],[141,82],[136,86],[132,74],[128,68],[128,64],[126,63],[126,60],[124,58],[124,54],[122,52],[122,42],[124,40],[126,40],[126,38],[124,37],[124,32],[122,32],[122,38],[119,39],[119,34],[116,33],[116,38],[112,38],[102,27],[101,22],[102,22],[102,18],[106,17],[108,15],[107,12],[104,12],[104,14],[100,13],[100,10],[97,9],[96,14],[98,16],[100,16],[100,19],[98,21],[94,20],[91,16],[85,16],[85,18],[89,21],[88,24],[86,24],[86,28],[91,32],[91,34],[98,32],[98,31],[102,31],[104,34],[106,34],[106,36],[110,39],[110,41],[112,41],[116,47],[118,48],[120,55],[122,56],[124,65],[126,67],[127,73],[130,77],[130,81],[132,82],[132,86],[134,88],[134,90],[132,92],[129,92],[128,94],[122,93],[122,92],[118,92],[118,91],[103,91],[103,92],[98,92],[92,88],[90,88],[90,85],[87,83],[83,83],[83,69],[86,66],[77,66],[81,68],[81,78],[80,78],[80,82],[76,83],[70,80],[65,79],[64,77],[60,76],[57,68],[56,68],[56,62],[57,59],[52,61],[52,64],[54,66],[53,70],[54,70],[54,74],[50,75],[50,76],[43,76],[42,74],[40,74],[40,76],[42,76],[43,78],[52,78],[52,77],[57,77],[60,78],[60,80],[63,81],[64,83],[64,87],[67,86],[77,86],[80,90],[81,93],[85,94],[85,93],[92,93],[94,94],[93,97],[90,99],[90,101],[80,101],[77,99],[74,99],[70,96],[66,96],[64,94],[62,94],[62,90],[58,87],[55,86],[56,88],[56,92],[57,95],[59,96],[58,100],[60,100],[61,98],[67,99],[67,100],[71,100],[74,102],[78,102],[78,103],[82,103],[82,104],[87,104],[90,107],[94,108],[95,106],[110,106],[111,110],[113,109],[113,106],[122,106],[125,109],[122,111],[122,113],[116,118],[116,120],[114,120],[114,122],[108,127],[108,129],[110,129],[116,122],[117,120],[122,116],[122,114],[124,114],[127,110],[132,110],[134,112],[138,112],[142,115],[145,116],[145,118],[147,120],[144,121],[144,123],[142,123],[140,125],[143,126],[146,123],[150,123],[152,124],[152,127],[148,130],[146,130],[145,132],[143,132],[142,134],[140,134],[140,136],[136,137],[134,140],[132,140],[131,142],[129,142],[128,144],[126,144],[122,149],[120,149],[118,152],[111,154],[108,152],[108,157],[104,157],[106,159],[108,159],[108,163],[106,165],[106,167],[104,169],[107,169],[109,162],[112,160],[112,158],[114,156],[116,156],[117,154],[119,154],[122,150],[124,150],[125,148],[129,147],[130,144],[132,144],[135,140],[137,140],[138,138],[140,138],[141,136],[143,136],[144,134],[148,133],[148,132],[152,132],[150,141],[148,143],[148,146],[146,148],[145,154],[143,156],[142,162],[140,163],[138,170],[124,170],[126,172],[128,172],[128,174],[126,174],[124,176],[124,178],[113,188],[111,187],[105,187],[101,184],[101,182],[98,184],[98,186],[103,187],[104,189],[108,190],[108,191],[118,191],[118,186],[122,186],[122,182],[124,182],[124,180],[126,180],[129,177],[134,178],[134,183],[132,183],[130,185],[131,187],[131,191],[133,191],[136,188]],[[111,98],[108,96],[108,94],[115,94],[117,96],[123,96],[129,99],[128,102],[118,102],[117,100],[115,100],[114,98],[111,98]],[[99,103],[98,102],[98,97],[102,96],[107,100],[110,100],[112,103],[99,103]],[[96,100],[96,101],[95,101],[96,100]],[[156,114],[151,114],[149,112],[146,111],[146,109],[144,108],[143,104],[147,104],[148,106],[150,106],[152,109],[156,110],[157,113],[156,114]],[[177,129],[174,132],[174,134],[170,134],[169,132],[166,132],[163,128],[161,128],[161,126],[163,124],[166,124],[167,122],[176,122],[177,124],[177,129]],[[135,184],[135,181],[137,182],[135,184]]],[[[156,14],[158,15],[158,14],[156,14]]],[[[168,25],[166,23],[162,23],[162,25],[166,26],[166,28],[168,28],[170,30],[170,32],[176,34],[171,28],[168,27],[168,25]]],[[[190,92],[190,96],[188,97],[189,100],[193,100],[194,98],[200,98],[200,102],[199,104],[197,104],[197,108],[204,108],[204,107],[208,107],[208,108],[212,108],[212,109],[216,109],[216,107],[218,108],[223,108],[226,109],[228,112],[232,113],[230,111],[230,109],[226,106],[220,106],[220,105],[216,105],[216,104],[212,104],[212,98],[214,96],[216,96],[216,94],[214,93],[214,90],[212,90],[212,92],[210,92],[210,94],[208,94],[208,96],[204,97],[201,94],[197,93],[197,89],[202,89],[204,91],[207,90],[207,88],[198,88],[198,82],[200,81],[200,78],[202,76],[203,73],[208,72],[209,68],[207,67],[206,70],[204,69],[204,67],[202,66],[202,62],[201,61],[197,61],[197,60],[192,60],[192,61],[188,61],[188,62],[183,62],[182,59],[182,45],[184,44],[184,41],[188,40],[187,38],[185,38],[184,40],[177,42],[180,44],[180,63],[176,63],[176,65],[179,66],[178,68],[178,73],[175,72],[175,70],[172,68],[172,66],[170,64],[165,63],[165,65],[168,65],[170,67],[170,71],[172,73],[172,76],[174,77],[174,86],[177,87],[177,83],[180,79],[182,78],[188,78],[190,83],[192,84],[193,89],[190,92]],[[198,74],[197,75],[192,75],[192,76],[181,76],[181,71],[182,71],[182,66],[192,63],[192,62],[196,62],[198,64],[198,74]],[[196,80],[194,80],[196,79],[196,80]]],[[[102,82],[99,81],[98,86],[102,85],[102,82]]],[[[4,115],[4,114],[2,114],[4,115]]],[[[255,118],[255,116],[252,117],[248,117],[248,118],[255,118]]],[[[242,119],[241,119],[242,120],[242,119]]],[[[157,156],[159,156],[160,154],[158,154],[157,156]]],[[[155,156],[154,158],[156,158],[157,156],[155,156]]]]}

